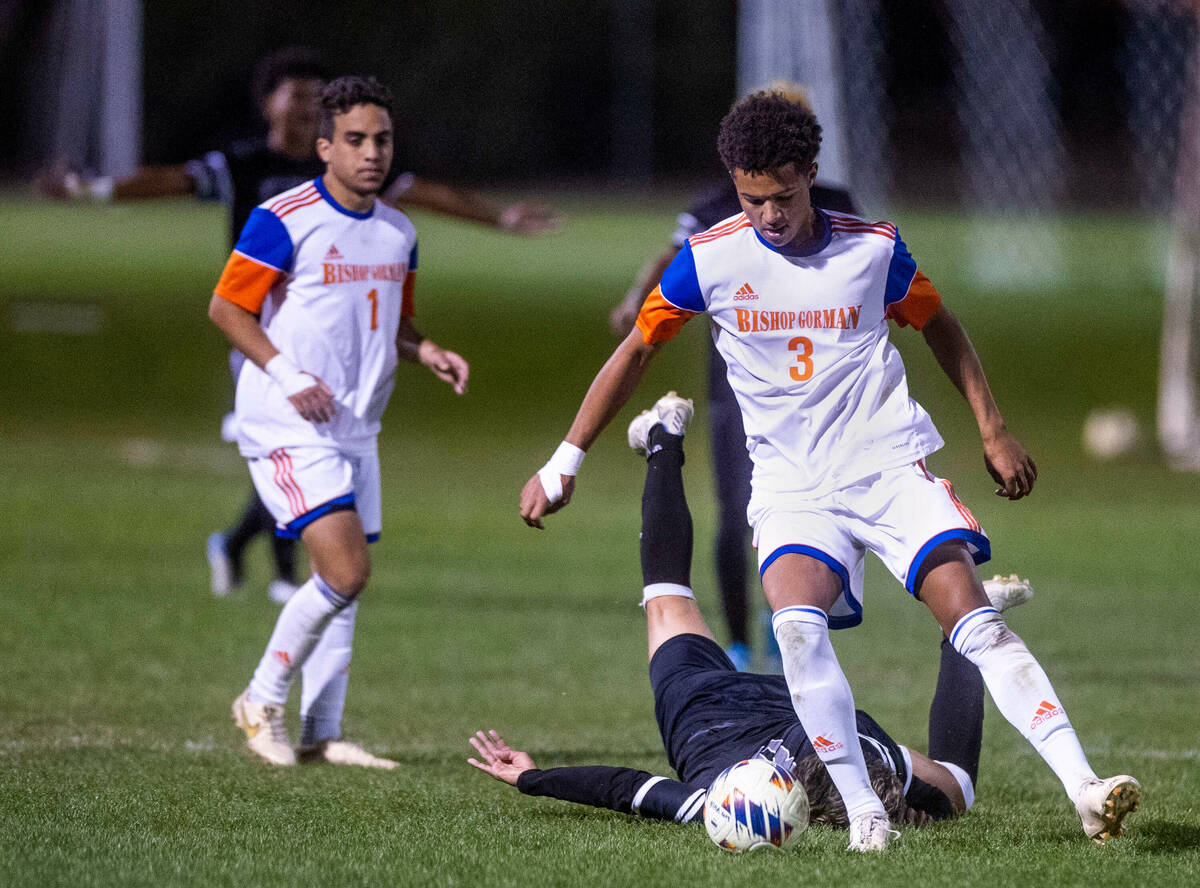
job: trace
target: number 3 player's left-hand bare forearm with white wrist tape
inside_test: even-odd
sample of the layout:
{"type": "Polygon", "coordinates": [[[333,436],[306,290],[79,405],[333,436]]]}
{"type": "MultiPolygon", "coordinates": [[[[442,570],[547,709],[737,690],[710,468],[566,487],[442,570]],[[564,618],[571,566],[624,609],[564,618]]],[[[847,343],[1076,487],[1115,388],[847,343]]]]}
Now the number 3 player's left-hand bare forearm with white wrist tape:
{"type": "Polygon", "coordinates": [[[659,348],[661,343],[647,344],[642,331],[637,329],[617,346],[617,350],[592,380],[558,451],[541,470],[526,481],[521,491],[521,518],[526,524],[542,529],[544,516],[571,502],[575,474],[583,461],[583,454],[629,401],[659,348]]]}

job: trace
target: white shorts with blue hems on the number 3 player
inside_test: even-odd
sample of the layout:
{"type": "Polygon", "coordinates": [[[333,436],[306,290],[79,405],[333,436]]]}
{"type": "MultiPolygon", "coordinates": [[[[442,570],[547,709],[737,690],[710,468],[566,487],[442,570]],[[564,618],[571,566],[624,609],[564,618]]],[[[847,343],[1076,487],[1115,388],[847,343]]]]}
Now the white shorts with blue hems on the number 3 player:
{"type": "Polygon", "coordinates": [[[930,474],[924,461],[864,478],[803,505],[767,503],[750,515],[750,523],[758,576],[781,554],[794,552],[824,562],[841,578],[842,594],[829,611],[830,629],[863,622],[868,550],[913,596],[920,565],[947,540],[962,540],[976,564],[991,558],[979,522],[950,482],[930,474]]]}

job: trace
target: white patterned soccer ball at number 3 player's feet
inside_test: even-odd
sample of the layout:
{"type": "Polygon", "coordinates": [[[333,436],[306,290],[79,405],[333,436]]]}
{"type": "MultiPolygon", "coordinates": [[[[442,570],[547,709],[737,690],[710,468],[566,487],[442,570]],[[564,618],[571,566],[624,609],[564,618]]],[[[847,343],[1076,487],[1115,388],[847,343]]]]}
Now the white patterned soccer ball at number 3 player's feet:
{"type": "Polygon", "coordinates": [[[766,758],[731,764],[708,788],[704,829],[726,851],[786,848],[808,828],[804,787],[766,758]]]}

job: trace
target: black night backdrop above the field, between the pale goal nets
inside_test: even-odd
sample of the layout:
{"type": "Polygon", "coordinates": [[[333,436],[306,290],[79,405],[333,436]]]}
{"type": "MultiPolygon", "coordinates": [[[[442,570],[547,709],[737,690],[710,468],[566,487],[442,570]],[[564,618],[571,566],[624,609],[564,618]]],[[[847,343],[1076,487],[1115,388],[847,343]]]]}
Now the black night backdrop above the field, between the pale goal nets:
{"type": "MultiPolygon", "coordinates": [[[[1121,66],[1118,0],[1036,0],[1070,163],[1063,197],[1138,202],[1121,66]]],[[[462,184],[679,185],[719,172],[715,128],[737,95],[737,5],[694,2],[155,2],[144,8],[144,160],[178,163],[258,131],[247,82],[282,46],[320,50],[335,72],[376,73],[398,100],[397,163],[462,184]],[[648,115],[641,114],[647,110],[648,115]],[[650,156],[630,145],[653,146],[650,156]]],[[[884,0],[892,193],[962,196],[961,125],[941,2],[884,0]]],[[[26,113],[54,52],[49,4],[0,18],[0,143],[10,181],[46,160],[26,113]]],[[[847,64],[853,64],[850,60],[847,64]]]]}

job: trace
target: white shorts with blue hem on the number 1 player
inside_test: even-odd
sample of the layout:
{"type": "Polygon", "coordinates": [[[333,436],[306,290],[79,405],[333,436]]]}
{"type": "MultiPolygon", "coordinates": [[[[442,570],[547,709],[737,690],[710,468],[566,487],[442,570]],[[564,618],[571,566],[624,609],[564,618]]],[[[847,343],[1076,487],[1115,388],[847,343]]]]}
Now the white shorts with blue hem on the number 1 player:
{"type": "Polygon", "coordinates": [[[276,535],[298,540],[323,515],[354,510],[367,542],[379,539],[383,512],[379,452],[374,448],[278,448],[247,462],[254,488],[275,517],[276,535]]]}

